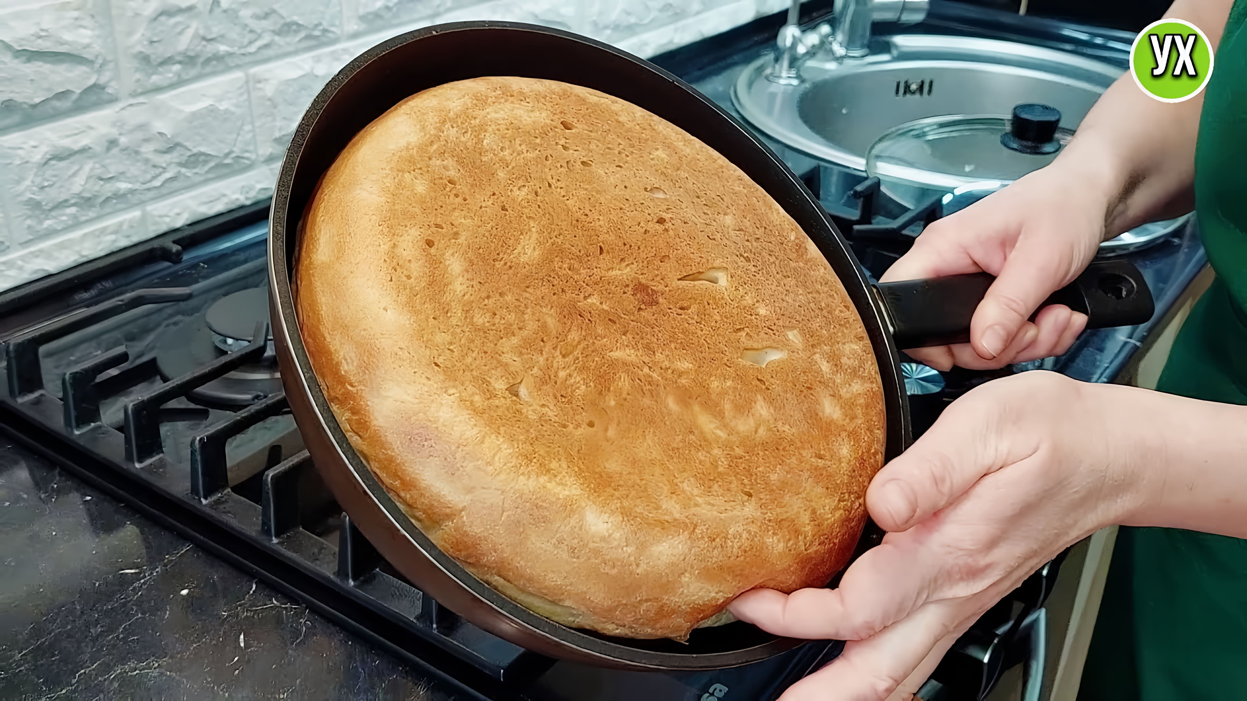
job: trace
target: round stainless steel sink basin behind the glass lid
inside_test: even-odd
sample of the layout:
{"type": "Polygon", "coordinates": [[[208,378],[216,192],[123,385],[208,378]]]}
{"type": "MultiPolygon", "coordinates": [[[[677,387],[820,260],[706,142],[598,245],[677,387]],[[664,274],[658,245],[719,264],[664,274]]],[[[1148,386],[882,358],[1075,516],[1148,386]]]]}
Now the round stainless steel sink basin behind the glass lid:
{"type": "Polygon", "coordinates": [[[875,138],[922,117],[1009,115],[1014,105],[1040,102],[1076,128],[1122,74],[1040,46],[917,34],[874,37],[863,60],[812,59],[796,86],[767,80],[771,61],[763,56],[741,72],[736,109],[776,141],[854,171],[865,171],[875,138]]]}

